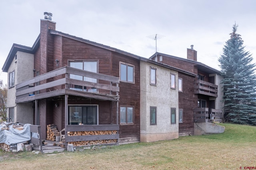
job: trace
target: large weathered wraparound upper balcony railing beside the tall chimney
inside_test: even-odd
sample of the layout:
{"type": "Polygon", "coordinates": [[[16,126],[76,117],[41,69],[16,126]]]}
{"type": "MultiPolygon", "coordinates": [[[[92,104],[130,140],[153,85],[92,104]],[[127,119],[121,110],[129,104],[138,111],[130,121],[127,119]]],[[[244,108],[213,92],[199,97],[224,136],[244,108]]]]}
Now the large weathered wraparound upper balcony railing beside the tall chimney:
{"type": "Polygon", "coordinates": [[[119,77],[80,70],[68,66],[36,76],[16,85],[16,103],[31,102],[44,98],[61,97],[65,94],[100,100],[119,100],[119,77]],[[69,78],[70,74],[97,79],[97,83],[69,78]],[[70,88],[89,87],[96,92],[70,88]]]}

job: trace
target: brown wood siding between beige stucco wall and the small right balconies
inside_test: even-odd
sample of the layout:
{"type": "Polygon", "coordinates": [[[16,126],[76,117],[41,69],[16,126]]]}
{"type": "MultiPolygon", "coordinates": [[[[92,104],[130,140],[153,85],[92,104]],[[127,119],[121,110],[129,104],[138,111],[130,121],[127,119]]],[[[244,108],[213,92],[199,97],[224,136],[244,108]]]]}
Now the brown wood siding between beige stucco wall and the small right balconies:
{"type": "Polygon", "coordinates": [[[182,78],[183,92],[179,92],[179,109],[183,109],[183,123],[179,123],[179,135],[194,135],[194,108],[197,107],[197,94],[194,94],[194,77],[178,73],[182,78]]]}

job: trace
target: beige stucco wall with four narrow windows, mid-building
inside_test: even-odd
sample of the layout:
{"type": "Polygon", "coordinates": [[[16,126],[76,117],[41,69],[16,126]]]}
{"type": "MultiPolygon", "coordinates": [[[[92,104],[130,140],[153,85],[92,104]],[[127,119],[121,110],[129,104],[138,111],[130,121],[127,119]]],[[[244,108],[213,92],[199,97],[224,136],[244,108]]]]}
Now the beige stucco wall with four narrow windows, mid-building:
{"type": "Polygon", "coordinates": [[[178,72],[140,61],[140,141],[178,138],[178,89],[170,88],[170,74],[178,72]],[[156,86],[150,85],[150,66],[156,68],[156,86]],[[150,106],[157,107],[156,124],[150,125],[150,106]],[[176,124],[171,124],[171,107],[176,108],[176,124]]]}

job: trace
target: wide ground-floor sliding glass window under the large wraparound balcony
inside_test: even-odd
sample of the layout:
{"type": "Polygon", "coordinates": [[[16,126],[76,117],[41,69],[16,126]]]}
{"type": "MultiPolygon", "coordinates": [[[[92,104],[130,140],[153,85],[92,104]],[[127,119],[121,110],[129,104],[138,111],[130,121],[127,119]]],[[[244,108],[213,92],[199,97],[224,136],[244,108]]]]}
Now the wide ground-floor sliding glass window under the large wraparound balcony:
{"type": "Polygon", "coordinates": [[[68,125],[98,125],[98,106],[68,106],[68,125]]]}

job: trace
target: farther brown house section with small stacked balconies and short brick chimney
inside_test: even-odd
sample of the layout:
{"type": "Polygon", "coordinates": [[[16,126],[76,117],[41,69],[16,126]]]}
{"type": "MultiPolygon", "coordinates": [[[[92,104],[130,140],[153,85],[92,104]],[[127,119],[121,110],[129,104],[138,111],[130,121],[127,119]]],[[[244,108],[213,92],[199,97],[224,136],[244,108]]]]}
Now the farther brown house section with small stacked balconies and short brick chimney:
{"type": "MultiPolygon", "coordinates": [[[[187,49],[187,59],[163,53],[156,53],[150,57],[154,61],[198,75],[192,77],[178,72],[178,81],[182,82],[182,90],[179,90],[178,94],[179,136],[200,134],[197,127],[202,123],[199,122],[222,121],[224,113],[220,83],[223,78],[220,71],[198,62],[197,51],[193,47],[191,45],[191,48],[187,49]]],[[[213,133],[220,132],[218,127],[216,129],[213,133]]],[[[223,131],[223,128],[220,129],[223,131]]],[[[204,130],[207,133],[210,129],[204,127],[204,130]]]]}

